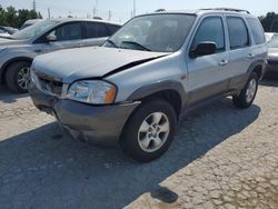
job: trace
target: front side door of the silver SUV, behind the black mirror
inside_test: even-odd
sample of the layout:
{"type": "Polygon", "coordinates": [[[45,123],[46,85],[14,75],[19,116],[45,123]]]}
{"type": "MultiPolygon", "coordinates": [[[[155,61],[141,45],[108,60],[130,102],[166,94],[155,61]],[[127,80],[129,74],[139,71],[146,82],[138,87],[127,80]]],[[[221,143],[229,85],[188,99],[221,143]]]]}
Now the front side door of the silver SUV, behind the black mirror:
{"type": "Polygon", "coordinates": [[[228,80],[225,71],[229,60],[225,40],[221,16],[209,16],[201,20],[190,50],[200,42],[210,41],[217,44],[217,51],[215,54],[188,58],[188,89],[191,104],[227,90],[228,80]]]}

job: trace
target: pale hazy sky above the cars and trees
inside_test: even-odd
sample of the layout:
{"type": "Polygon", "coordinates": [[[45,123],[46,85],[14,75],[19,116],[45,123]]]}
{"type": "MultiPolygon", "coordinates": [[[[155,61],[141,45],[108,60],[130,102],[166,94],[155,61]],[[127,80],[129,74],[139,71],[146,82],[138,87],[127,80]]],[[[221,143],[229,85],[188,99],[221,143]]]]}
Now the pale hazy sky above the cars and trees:
{"type": "MultiPolygon", "coordinates": [[[[13,6],[17,9],[32,9],[33,0],[0,0],[3,8],[13,6]]],[[[166,10],[190,10],[200,8],[228,7],[249,10],[256,16],[261,16],[268,11],[278,13],[278,0],[135,0],[136,14],[152,12],[157,9],[166,10]]],[[[43,18],[48,18],[50,8],[51,18],[72,16],[77,18],[90,18],[96,8],[97,16],[102,19],[126,22],[131,18],[133,0],[36,0],[37,11],[43,18]],[[97,3],[98,2],[98,3],[97,3]],[[98,8],[98,9],[97,9],[98,8]]]]}

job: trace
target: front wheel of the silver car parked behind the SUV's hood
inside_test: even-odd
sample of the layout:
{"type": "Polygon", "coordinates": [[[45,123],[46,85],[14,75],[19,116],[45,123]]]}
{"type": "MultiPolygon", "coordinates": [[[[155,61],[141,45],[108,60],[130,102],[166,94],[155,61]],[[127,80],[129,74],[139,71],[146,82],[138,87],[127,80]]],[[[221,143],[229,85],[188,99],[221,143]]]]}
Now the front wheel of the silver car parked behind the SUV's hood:
{"type": "Polygon", "coordinates": [[[29,79],[30,66],[31,63],[28,61],[20,61],[20,62],[14,62],[8,67],[6,73],[6,84],[12,92],[14,93],[28,92],[28,82],[24,81],[19,82],[19,79],[20,78],[21,80],[29,79]]]}

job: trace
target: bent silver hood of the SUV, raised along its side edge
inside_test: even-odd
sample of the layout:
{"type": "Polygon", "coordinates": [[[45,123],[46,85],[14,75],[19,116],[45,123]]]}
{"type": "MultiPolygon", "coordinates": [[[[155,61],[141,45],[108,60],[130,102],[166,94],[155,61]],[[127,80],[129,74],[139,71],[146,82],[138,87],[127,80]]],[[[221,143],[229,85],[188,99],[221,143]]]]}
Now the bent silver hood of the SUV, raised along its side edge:
{"type": "Polygon", "coordinates": [[[168,53],[89,47],[39,56],[32,68],[70,83],[78,79],[100,78],[127,64],[137,66],[166,54],[168,53]]]}

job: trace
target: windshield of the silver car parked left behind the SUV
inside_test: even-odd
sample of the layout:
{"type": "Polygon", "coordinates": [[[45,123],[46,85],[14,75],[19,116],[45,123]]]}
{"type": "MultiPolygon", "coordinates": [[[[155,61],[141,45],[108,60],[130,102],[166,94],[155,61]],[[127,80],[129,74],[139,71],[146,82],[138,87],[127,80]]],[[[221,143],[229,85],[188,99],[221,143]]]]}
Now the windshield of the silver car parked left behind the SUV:
{"type": "Polygon", "coordinates": [[[11,38],[19,39],[19,40],[30,39],[32,37],[47,32],[50,28],[57,24],[57,22],[58,21],[53,21],[53,20],[44,20],[41,22],[37,22],[28,28],[24,28],[16,32],[14,34],[11,36],[11,38]]]}

